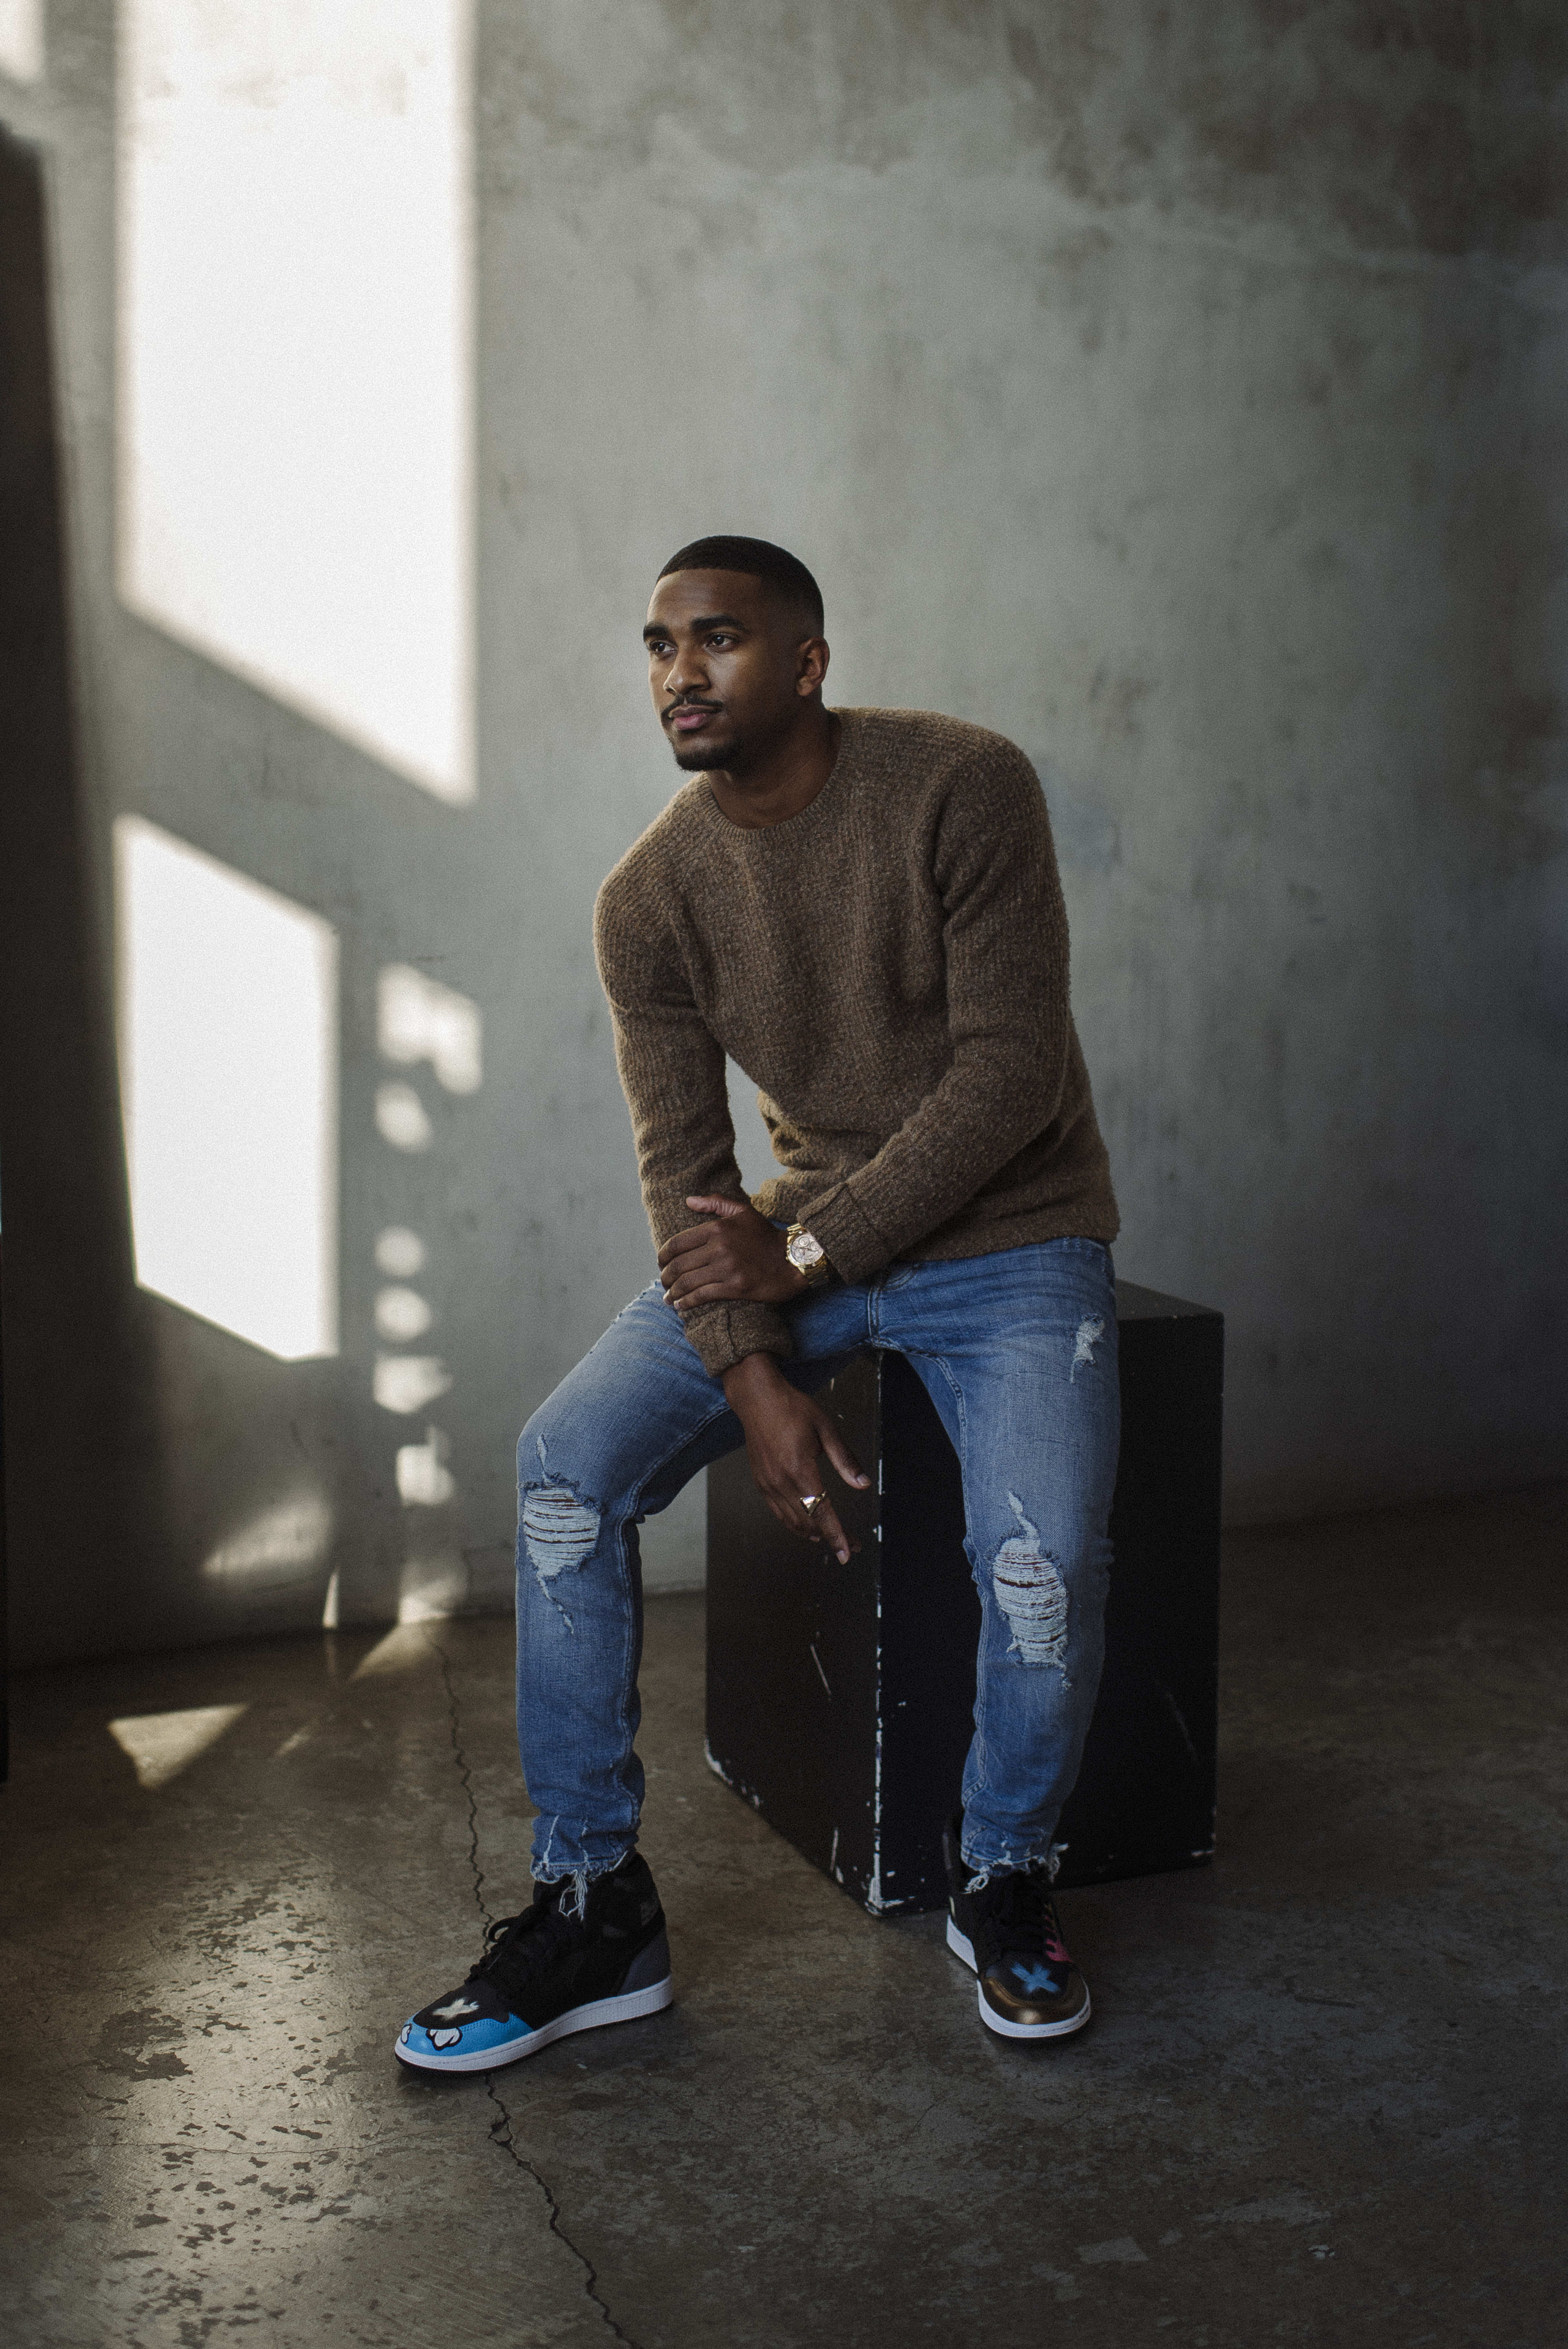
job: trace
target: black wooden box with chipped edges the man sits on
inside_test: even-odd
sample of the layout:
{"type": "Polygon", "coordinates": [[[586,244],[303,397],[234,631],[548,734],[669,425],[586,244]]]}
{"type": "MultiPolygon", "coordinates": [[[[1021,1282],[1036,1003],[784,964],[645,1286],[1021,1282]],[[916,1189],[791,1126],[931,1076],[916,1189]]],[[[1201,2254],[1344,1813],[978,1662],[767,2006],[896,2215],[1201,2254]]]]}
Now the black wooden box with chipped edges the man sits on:
{"type": "MultiPolygon", "coordinates": [[[[1225,1325],[1122,1280],[1117,1332],[1106,1672],[1059,1884],[1214,1853],[1225,1325]]],[[[897,1353],[857,1355],[822,1400],[871,1473],[866,1494],[836,1480],[847,1567],[768,1515],[744,1452],[709,1468],[709,1762],[866,1907],[941,1907],[979,1637],[958,1459],[897,1353]]]]}

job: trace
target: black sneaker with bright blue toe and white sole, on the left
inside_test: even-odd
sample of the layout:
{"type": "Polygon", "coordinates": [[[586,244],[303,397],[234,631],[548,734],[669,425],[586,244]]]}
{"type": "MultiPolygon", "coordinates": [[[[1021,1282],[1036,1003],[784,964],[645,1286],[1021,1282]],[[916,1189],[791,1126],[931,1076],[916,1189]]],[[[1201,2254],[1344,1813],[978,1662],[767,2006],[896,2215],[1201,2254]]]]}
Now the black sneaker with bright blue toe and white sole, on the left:
{"type": "Polygon", "coordinates": [[[641,1851],[587,1889],[587,1914],[561,1900],[573,1879],[540,1884],[521,1917],[500,1917],[462,1990],[420,2006],[397,2034],[420,2072],[493,2072],[568,2032],[631,2022],[669,2006],[664,1910],[641,1851]]]}

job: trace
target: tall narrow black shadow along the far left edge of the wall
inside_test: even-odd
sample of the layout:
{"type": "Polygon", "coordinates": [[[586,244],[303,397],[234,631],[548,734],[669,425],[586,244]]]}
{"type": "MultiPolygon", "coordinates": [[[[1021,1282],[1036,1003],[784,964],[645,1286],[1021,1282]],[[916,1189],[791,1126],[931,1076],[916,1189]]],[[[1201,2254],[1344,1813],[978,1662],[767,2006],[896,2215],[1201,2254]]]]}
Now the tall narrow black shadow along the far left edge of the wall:
{"type": "Polygon", "coordinates": [[[0,1179],[12,1604],[26,1654],[40,1579],[73,1581],[103,1644],[127,1635],[124,1536],[134,1527],[129,1548],[157,1546],[162,1492],[75,770],[42,176],[7,134],[0,359],[0,1179]],[[94,1428],[96,1478],[73,1473],[82,1431],[59,1423],[59,1398],[94,1428]]]}

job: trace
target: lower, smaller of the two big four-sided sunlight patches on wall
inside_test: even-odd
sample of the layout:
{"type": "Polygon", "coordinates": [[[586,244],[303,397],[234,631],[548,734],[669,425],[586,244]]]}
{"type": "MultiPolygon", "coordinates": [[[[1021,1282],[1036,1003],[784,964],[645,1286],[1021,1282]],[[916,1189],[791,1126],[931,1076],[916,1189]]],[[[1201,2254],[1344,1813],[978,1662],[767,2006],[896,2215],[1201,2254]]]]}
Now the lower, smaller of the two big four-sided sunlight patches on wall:
{"type": "Polygon", "coordinates": [[[115,824],[136,1280],[286,1362],[338,1351],[331,923],[115,824]]]}

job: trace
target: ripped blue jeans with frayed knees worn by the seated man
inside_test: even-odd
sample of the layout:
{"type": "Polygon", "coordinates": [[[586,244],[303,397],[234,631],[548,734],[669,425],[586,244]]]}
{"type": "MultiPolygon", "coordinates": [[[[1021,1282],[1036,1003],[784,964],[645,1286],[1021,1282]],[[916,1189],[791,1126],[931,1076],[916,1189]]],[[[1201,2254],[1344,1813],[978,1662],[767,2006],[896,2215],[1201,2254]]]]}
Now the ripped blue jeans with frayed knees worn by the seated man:
{"type": "MultiPolygon", "coordinates": [[[[904,1353],[962,1466],[981,1600],[962,1853],[976,1875],[1049,1860],[1103,1656],[1120,1445],[1115,1285],[1099,1240],[897,1264],[791,1306],[807,1393],[861,1346],[904,1353]]],[[[636,1527],[742,1442],[655,1283],[540,1405],[519,1442],[516,1734],[538,1804],[533,1872],[603,1875],[636,1842],[643,1586],[636,1527]]]]}

